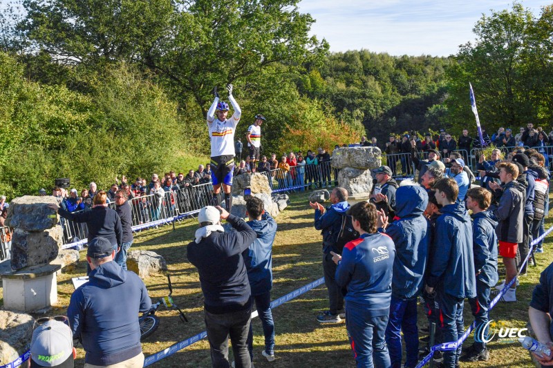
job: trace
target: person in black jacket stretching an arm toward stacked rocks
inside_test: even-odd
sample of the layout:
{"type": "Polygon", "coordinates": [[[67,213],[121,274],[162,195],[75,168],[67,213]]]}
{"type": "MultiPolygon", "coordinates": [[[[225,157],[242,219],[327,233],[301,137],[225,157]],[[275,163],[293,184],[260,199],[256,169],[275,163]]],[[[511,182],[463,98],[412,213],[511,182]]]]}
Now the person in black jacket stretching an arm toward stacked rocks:
{"type": "MultiPolygon", "coordinates": [[[[101,236],[111,242],[115,252],[119,252],[123,242],[121,218],[115,210],[108,208],[106,197],[105,191],[98,192],[93,198],[92,211],[69,213],[53,203],[48,204],[48,207],[67,220],[86,223],[86,226],[88,226],[88,243],[101,236]]],[[[90,269],[87,270],[88,272],[90,272],[90,269]]]]}

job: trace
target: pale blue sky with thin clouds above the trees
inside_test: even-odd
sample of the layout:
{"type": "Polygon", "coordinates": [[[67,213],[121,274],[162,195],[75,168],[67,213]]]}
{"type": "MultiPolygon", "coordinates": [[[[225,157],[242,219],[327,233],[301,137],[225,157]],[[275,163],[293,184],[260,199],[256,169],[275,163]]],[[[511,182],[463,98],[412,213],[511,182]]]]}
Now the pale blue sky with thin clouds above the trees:
{"type": "MultiPolygon", "coordinates": [[[[521,3],[538,16],[540,7],[551,2],[521,3]]],[[[482,13],[511,5],[499,0],[301,0],[299,10],[317,20],[311,33],[325,38],[330,51],[449,56],[474,40],[472,28],[482,13]]]]}

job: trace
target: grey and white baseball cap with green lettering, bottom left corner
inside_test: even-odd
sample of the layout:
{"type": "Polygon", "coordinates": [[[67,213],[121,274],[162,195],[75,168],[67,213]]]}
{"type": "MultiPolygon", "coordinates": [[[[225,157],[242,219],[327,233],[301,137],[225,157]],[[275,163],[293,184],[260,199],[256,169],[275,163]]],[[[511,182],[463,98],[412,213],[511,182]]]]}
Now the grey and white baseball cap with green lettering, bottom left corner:
{"type": "Polygon", "coordinates": [[[32,331],[31,367],[73,368],[73,333],[68,325],[48,320],[32,331]]]}

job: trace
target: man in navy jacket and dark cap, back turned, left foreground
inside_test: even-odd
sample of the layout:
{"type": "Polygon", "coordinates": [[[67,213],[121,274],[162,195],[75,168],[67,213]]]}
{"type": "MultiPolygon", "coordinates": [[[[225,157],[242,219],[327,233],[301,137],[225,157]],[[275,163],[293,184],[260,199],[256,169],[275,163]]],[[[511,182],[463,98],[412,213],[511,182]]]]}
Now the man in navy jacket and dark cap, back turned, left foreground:
{"type": "Polygon", "coordinates": [[[97,237],[88,243],[88,282],[71,296],[67,317],[73,338],[82,343],[84,368],[142,367],[138,313],[151,300],[138,275],[113,262],[111,241],[97,237]]]}

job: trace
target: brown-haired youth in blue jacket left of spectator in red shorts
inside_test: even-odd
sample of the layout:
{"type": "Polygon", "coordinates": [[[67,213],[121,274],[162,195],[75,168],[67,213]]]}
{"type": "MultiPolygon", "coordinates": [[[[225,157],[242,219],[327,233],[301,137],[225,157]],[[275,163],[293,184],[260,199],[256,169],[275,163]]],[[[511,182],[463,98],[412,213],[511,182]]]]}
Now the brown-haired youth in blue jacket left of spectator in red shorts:
{"type": "Polygon", "coordinates": [[[486,211],[491,204],[491,193],[485,188],[472,188],[467,192],[467,209],[472,211],[472,250],[476,270],[476,298],[470,298],[472,315],[476,320],[474,344],[469,347],[463,360],[477,362],[488,360],[485,338],[488,322],[489,293],[497,284],[497,235],[496,217],[486,211]]]}

